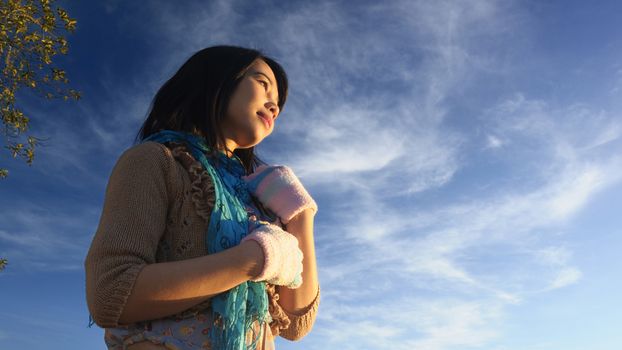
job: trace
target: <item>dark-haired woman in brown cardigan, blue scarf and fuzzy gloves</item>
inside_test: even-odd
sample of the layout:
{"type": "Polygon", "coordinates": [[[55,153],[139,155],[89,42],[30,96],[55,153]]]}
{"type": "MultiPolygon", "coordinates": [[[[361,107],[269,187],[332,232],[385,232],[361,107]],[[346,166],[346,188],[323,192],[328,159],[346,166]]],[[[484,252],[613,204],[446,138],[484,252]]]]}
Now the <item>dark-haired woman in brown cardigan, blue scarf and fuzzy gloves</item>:
{"type": "Polygon", "coordinates": [[[311,330],[317,204],[254,154],[287,90],[276,61],[236,46],[198,51],[160,88],[85,260],[108,349],[273,349],[311,330]]]}

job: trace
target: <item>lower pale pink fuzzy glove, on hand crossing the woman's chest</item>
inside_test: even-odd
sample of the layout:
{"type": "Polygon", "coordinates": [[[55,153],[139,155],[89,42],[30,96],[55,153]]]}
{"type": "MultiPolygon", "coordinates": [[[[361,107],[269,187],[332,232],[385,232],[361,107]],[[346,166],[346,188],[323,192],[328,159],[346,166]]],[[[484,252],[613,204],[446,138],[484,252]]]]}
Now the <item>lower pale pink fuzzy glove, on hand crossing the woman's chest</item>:
{"type": "Polygon", "coordinates": [[[298,288],[302,284],[303,254],[298,239],[277,225],[262,224],[240,243],[254,240],[263,249],[263,271],[251,281],[267,281],[270,284],[298,288]]]}

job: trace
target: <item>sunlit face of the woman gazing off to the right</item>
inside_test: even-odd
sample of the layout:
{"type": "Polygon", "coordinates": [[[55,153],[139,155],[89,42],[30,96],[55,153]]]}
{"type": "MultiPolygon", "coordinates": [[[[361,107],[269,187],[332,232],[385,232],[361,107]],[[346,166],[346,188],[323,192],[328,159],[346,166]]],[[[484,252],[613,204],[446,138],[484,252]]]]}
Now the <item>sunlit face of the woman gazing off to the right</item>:
{"type": "Polygon", "coordinates": [[[272,69],[256,60],[233,92],[223,121],[230,150],[253,147],[272,133],[279,114],[278,98],[272,69]]]}

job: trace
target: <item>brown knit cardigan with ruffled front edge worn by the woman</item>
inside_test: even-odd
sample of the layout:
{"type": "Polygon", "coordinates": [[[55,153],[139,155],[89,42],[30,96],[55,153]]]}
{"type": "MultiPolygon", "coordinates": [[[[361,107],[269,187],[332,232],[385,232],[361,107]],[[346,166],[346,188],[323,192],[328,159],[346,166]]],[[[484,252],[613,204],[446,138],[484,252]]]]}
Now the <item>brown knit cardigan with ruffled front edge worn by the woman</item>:
{"type": "MultiPolygon", "coordinates": [[[[207,254],[205,232],[215,202],[211,177],[183,146],[167,146],[145,142],[130,147],[110,175],[99,226],[84,262],[89,312],[102,328],[119,326],[144,266],[207,254]]],[[[267,292],[274,336],[304,337],[315,322],[319,289],[314,301],[297,314],[280,307],[273,285],[267,285],[267,292]]],[[[185,317],[209,305],[210,299],[175,316],[185,317]]]]}

